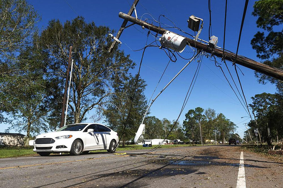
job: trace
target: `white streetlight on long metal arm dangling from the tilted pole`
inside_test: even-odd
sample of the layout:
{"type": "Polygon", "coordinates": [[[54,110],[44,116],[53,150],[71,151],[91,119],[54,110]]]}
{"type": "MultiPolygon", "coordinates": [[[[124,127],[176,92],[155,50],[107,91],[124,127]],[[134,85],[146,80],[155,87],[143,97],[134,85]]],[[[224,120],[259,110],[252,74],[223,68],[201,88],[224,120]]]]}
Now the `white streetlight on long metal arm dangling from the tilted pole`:
{"type": "Polygon", "coordinates": [[[144,133],[145,133],[145,124],[143,124],[144,119],[147,115],[147,112],[149,110],[149,108],[151,107],[151,105],[153,104],[153,102],[157,99],[157,97],[166,89],[166,87],[168,87],[172,81],[175,80],[175,78],[200,54],[201,51],[198,51],[197,54],[191,58],[191,60],[174,76],[174,78],[172,78],[171,81],[169,81],[169,83],[158,93],[158,95],[152,100],[152,102],[148,105],[147,110],[142,118],[142,123],[140,124],[140,127],[138,128],[137,132],[136,132],[136,136],[134,138],[134,143],[141,143],[143,138],[144,138],[144,133]]]}

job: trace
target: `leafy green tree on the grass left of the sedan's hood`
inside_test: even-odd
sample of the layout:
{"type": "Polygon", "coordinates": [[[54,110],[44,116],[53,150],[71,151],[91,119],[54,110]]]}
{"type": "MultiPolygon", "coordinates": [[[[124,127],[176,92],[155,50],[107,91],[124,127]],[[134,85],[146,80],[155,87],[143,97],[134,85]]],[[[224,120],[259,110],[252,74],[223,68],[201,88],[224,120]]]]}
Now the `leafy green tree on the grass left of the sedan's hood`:
{"type": "Polygon", "coordinates": [[[45,118],[49,112],[47,96],[48,81],[44,76],[44,54],[38,55],[34,46],[22,50],[18,60],[14,61],[19,69],[29,65],[28,69],[18,71],[6,82],[2,82],[5,90],[2,91],[6,103],[6,111],[13,118],[12,125],[8,128],[26,131],[26,145],[31,133],[40,133],[48,128],[45,118]]]}

